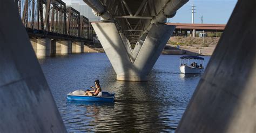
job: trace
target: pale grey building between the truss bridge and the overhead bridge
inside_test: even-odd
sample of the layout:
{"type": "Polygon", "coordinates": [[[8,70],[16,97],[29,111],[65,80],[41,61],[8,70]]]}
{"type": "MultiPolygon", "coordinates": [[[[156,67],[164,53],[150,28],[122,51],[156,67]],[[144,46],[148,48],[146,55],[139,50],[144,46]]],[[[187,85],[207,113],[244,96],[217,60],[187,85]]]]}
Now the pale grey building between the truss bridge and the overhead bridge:
{"type": "Polygon", "coordinates": [[[89,21],[100,21],[99,16],[95,16],[92,13],[92,9],[88,6],[83,0],[63,0],[66,3],[66,6],[71,6],[73,9],[76,9],[80,12],[80,15],[89,19],[89,21]]]}

